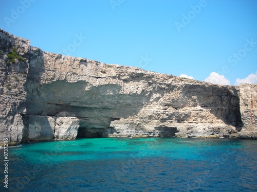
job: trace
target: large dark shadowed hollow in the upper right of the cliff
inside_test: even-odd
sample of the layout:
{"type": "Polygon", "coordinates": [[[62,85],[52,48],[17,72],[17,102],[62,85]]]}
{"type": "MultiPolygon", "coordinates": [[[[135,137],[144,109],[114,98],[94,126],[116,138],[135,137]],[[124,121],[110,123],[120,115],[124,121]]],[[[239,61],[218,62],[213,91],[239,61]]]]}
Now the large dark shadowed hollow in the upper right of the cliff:
{"type": "Polygon", "coordinates": [[[232,126],[242,124],[240,114],[240,98],[236,88],[232,86],[185,85],[182,90],[185,105],[200,106],[232,126]]]}

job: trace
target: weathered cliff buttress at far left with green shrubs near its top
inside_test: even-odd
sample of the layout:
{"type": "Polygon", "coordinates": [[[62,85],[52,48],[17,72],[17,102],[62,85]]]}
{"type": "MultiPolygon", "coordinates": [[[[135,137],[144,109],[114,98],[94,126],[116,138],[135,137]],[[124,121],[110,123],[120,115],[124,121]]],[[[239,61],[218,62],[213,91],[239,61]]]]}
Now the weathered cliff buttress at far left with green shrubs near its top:
{"type": "Polygon", "coordinates": [[[26,114],[29,51],[29,40],[0,29],[0,140],[8,138],[9,145],[23,142],[25,138],[22,116],[26,114]],[[13,53],[13,58],[8,58],[9,53],[13,53]]]}

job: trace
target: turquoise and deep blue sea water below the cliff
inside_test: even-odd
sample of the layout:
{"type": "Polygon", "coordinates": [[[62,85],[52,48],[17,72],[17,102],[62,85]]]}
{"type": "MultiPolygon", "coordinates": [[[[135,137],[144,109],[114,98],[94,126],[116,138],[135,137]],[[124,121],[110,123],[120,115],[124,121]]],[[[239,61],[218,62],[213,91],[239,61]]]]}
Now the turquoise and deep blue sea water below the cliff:
{"type": "Polygon", "coordinates": [[[9,188],[1,191],[257,191],[256,140],[31,142],[10,147],[8,157],[9,188]]]}

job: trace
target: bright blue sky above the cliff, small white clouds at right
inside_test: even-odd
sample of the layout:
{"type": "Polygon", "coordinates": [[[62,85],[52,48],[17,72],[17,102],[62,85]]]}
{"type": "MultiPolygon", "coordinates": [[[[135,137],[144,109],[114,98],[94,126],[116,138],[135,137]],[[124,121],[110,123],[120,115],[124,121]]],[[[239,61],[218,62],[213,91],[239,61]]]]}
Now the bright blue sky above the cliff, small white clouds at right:
{"type": "Polygon", "coordinates": [[[255,0],[0,0],[0,28],[47,52],[257,83],[255,0]]]}

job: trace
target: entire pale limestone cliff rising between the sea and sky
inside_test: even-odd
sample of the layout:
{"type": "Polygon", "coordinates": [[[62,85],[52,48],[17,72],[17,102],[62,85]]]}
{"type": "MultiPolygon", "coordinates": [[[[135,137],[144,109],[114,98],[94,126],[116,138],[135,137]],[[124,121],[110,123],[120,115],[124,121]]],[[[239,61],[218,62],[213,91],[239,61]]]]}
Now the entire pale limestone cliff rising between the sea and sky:
{"type": "Polygon", "coordinates": [[[76,137],[256,138],[254,85],[219,86],[47,53],[3,30],[0,64],[1,140],[12,145],[76,137]]]}

